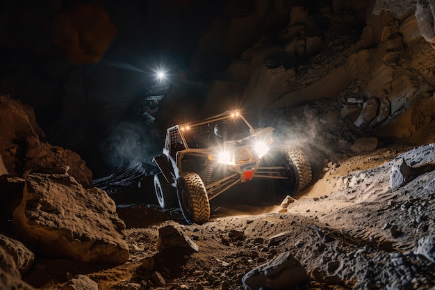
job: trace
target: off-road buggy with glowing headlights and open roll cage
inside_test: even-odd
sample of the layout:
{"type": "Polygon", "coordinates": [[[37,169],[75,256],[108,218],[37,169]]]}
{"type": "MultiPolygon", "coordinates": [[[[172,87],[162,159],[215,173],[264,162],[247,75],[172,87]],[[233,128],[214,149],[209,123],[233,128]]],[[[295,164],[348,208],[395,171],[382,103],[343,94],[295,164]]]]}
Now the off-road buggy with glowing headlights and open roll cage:
{"type": "Polygon", "coordinates": [[[180,207],[186,222],[205,223],[210,200],[254,178],[277,179],[291,191],[311,182],[311,166],[299,149],[272,147],[274,128],[254,129],[237,111],[166,131],[154,188],[163,209],[180,207]]]}

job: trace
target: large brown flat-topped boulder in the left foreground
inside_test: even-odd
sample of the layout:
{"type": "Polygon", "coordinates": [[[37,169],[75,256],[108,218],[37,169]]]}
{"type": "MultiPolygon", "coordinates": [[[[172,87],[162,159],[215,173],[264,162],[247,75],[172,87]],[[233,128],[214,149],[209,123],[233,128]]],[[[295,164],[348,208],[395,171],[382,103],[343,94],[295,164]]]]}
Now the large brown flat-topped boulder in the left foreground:
{"type": "Polygon", "coordinates": [[[41,255],[109,264],[129,259],[115,202],[67,173],[28,175],[13,220],[17,239],[41,255]]]}

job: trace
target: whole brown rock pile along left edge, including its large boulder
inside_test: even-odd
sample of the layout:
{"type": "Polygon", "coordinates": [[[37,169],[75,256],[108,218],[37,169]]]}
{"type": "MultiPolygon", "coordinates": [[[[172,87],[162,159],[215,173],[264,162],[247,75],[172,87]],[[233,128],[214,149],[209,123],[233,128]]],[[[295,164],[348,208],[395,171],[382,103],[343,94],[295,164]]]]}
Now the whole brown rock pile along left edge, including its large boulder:
{"type": "Polygon", "coordinates": [[[2,289],[20,281],[38,257],[122,264],[129,259],[115,202],[92,187],[79,154],[45,142],[32,108],[0,98],[0,267],[2,289]],[[4,162],[3,162],[4,161],[4,162]],[[12,226],[10,225],[12,223],[12,226]],[[28,250],[31,249],[31,250],[28,250]]]}

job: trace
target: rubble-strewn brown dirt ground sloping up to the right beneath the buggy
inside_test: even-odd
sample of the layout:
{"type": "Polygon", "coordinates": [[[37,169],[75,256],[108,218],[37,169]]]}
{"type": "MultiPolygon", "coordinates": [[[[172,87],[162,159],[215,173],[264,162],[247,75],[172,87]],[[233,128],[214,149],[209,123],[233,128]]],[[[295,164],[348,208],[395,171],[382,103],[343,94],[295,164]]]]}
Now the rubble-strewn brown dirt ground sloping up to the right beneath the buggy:
{"type": "Polygon", "coordinates": [[[294,289],[429,289],[435,264],[417,254],[417,244],[434,234],[435,172],[422,171],[391,188],[391,168],[400,157],[422,168],[435,163],[434,146],[384,147],[329,163],[288,207],[281,206],[286,195],[270,182],[242,184],[243,190],[212,200],[212,218],[204,225],[183,225],[177,211],[145,204],[120,207],[129,262],[40,260],[24,280],[45,290],[60,289],[76,274],[100,290],[245,289],[243,275],[289,251],[310,275],[294,289]],[[199,250],[159,251],[158,229],[165,225],[199,250]],[[152,271],[142,266],[146,257],[155,261],[152,271]]]}

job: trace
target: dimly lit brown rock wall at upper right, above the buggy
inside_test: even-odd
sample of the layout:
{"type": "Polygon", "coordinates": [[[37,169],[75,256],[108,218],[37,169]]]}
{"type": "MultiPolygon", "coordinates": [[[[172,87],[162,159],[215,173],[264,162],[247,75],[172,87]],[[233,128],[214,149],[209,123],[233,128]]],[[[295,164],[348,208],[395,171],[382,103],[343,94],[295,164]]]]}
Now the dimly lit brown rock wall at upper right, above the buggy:
{"type": "Polygon", "coordinates": [[[421,24],[422,19],[433,18],[428,12],[431,3],[323,3],[315,13],[295,6],[286,30],[277,37],[286,43],[285,50],[270,40],[245,50],[229,65],[225,77],[214,81],[205,109],[222,110],[244,102],[249,104],[246,111],[259,118],[264,111],[338,99],[343,115],[336,122],[350,120],[362,134],[432,142],[435,50],[423,35],[430,34],[427,24],[421,24]],[[344,11],[340,9],[350,6],[347,14],[340,14],[344,11]],[[360,25],[361,30],[345,31],[343,23],[360,25]],[[321,29],[318,38],[315,33],[321,29]],[[234,72],[242,72],[243,78],[237,79],[234,72]],[[218,97],[227,91],[232,93],[218,97]]]}

